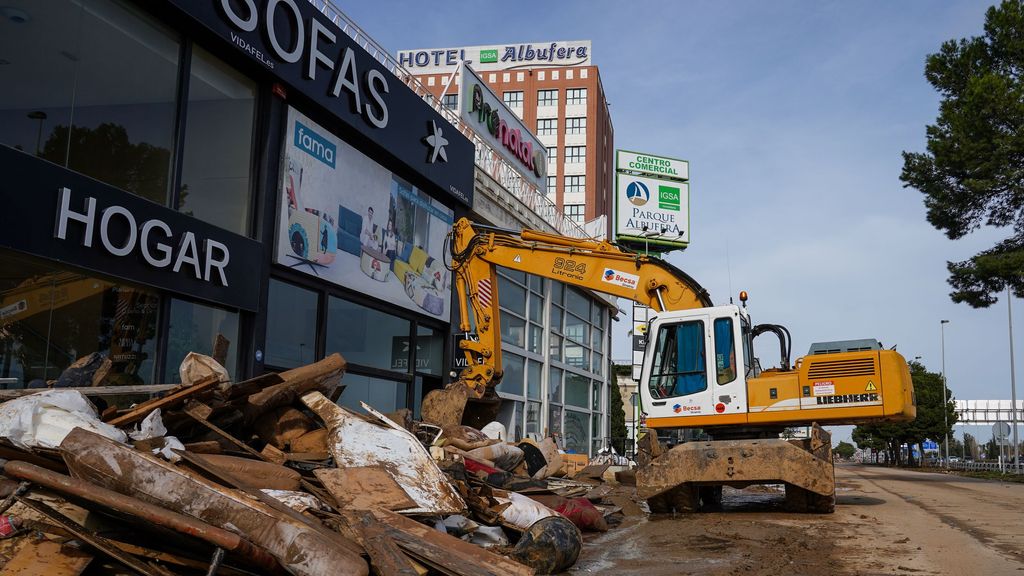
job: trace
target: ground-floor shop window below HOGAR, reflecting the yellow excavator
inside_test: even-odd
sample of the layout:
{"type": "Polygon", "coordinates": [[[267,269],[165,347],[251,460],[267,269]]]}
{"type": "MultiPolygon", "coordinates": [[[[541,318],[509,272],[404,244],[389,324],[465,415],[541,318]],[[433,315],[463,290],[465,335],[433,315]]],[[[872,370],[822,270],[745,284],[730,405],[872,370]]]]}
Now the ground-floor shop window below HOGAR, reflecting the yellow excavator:
{"type": "MultiPolygon", "coordinates": [[[[102,385],[154,380],[159,296],[135,287],[0,254],[0,380],[45,387],[75,361],[111,360],[102,385]]],[[[67,385],[92,385],[92,380],[67,385]]]]}

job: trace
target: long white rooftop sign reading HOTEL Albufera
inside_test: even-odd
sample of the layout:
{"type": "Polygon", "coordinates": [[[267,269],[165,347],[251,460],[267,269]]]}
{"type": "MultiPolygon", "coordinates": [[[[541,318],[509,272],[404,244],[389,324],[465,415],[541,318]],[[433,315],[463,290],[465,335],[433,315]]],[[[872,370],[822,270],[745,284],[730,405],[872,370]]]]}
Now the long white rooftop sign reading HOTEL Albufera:
{"type": "Polygon", "coordinates": [[[460,61],[473,65],[477,72],[517,68],[590,66],[590,40],[486,44],[458,48],[398,50],[398,64],[413,74],[452,72],[460,61]]]}

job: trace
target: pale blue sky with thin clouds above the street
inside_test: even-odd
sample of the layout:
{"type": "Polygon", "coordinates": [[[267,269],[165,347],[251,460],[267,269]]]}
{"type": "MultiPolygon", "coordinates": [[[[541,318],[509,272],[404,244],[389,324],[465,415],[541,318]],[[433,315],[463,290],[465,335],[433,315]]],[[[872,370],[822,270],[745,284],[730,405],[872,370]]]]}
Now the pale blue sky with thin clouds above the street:
{"type": "MultiPolygon", "coordinates": [[[[690,161],[691,246],[670,259],[716,303],[746,290],[756,322],[790,328],[795,356],[873,337],[936,372],[948,319],[953,395],[1010,398],[1006,301],[952,303],[945,268],[999,231],[949,241],[899,181],[900,152],[924,150],[937,113],[926,55],[981,34],[990,3],[336,1],[392,53],[592,40],[615,148],[690,161]]],[[[615,359],[629,357],[627,324],[615,359]]],[[[761,338],[763,364],[776,348],[761,338]]]]}

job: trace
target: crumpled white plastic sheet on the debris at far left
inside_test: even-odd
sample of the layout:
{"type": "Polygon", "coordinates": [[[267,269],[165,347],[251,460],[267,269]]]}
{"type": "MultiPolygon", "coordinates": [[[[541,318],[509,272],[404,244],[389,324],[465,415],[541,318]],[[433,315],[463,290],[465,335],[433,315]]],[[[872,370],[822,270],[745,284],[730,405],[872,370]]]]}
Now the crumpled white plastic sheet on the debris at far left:
{"type": "Polygon", "coordinates": [[[0,404],[0,438],[18,448],[57,448],[75,428],[124,443],[125,433],[103,423],[77,390],[49,389],[0,404]]]}

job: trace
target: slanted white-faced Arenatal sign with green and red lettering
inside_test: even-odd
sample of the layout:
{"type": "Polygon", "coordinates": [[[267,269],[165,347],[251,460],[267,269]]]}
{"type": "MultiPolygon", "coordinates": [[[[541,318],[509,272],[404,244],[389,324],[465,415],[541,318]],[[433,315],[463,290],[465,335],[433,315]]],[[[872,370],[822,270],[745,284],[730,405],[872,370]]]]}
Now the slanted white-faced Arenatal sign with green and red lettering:
{"type": "Polygon", "coordinates": [[[548,150],[468,66],[459,80],[459,117],[541,194],[548,188],[548,150]]]}

